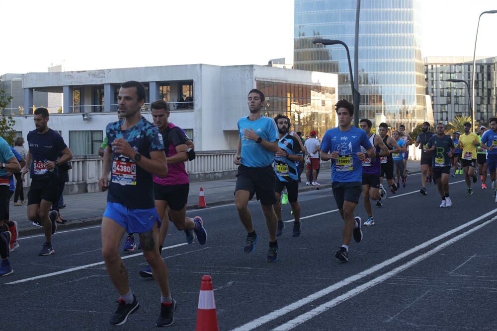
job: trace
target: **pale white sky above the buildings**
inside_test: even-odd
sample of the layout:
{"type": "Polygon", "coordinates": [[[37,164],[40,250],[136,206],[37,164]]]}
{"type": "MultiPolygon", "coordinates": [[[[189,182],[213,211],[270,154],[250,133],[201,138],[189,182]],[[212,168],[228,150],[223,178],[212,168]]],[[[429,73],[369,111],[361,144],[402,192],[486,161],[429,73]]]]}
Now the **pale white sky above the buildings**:
{"type": "MultiPolygon", "coordinates": [[[[496,0],[421,3],[423,58],[473,57],[478,16],[497,9],[496,0]]],[[[293,62],[293,0],[5,0],[1,11],[0,74],[293,62]]],[[[495,31],[497,14],[483,15],[477,57],[497,56],[495,31]]]]}

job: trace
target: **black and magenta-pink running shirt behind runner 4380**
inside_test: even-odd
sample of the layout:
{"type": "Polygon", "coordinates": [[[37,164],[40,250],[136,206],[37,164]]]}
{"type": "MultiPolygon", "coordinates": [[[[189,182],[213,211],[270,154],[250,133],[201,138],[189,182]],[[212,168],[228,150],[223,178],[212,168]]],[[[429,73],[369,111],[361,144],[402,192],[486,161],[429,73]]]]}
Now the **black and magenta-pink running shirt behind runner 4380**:
{"type": "MultiPolygon", "coordinates": [[[[161,132],[161,135],[164,140],[164,147],[166,147],[165,152],[167,157],[177,154],[177,145],[186,144],[181,128],[176,127],[172,123],[169,123],[167,128],[161,132]],[[171,130],[172,128],[177,129],[171,130]]],[[[167,176],[165,178],[160,178],[154,175],[154,182],[164,186],[188,184],[189,181],[188,174],[185,170],[185,163],[167,163],[167,176]]]]}

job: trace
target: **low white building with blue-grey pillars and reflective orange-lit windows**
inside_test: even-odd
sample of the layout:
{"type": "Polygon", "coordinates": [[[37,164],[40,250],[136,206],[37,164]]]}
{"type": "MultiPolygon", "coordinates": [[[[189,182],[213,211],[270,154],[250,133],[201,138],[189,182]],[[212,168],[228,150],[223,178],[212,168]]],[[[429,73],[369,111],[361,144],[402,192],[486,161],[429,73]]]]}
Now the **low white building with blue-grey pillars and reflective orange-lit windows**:
{"type": "MultiPolygon", "coordinates": [[[[32,114],[35,91],[59,93],[63,104],[50,109],[49,127],[59,131],[75,155],[95,155],[109,122],[117,120],[122,82],[138,80],[150,102],[169,103],[169,121],[180,126],[199,151],[236,149],[237,122],[248,114],[247,94],[266,95],[263,114],[285,114],[294,131],[324,133],[335,126],[337,75],[271,66],[154,66],[68,72],[33,72],[22,76],[25,108],[32,114]],[[61,113],[54,111],[61,108],[61,113]]],[[[28,114],[28,113],[25,113],[28,114]]],[[[14,116],[14,131],[34,129],[32,115],[14,116]]]]}

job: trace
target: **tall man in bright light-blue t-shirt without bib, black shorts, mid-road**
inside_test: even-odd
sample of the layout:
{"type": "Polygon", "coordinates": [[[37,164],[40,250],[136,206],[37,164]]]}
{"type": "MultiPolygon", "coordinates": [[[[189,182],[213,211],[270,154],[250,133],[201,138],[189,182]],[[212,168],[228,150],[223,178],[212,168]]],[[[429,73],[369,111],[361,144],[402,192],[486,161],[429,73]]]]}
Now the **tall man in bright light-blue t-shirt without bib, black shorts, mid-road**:
{"type": "Polygon", "coordinates": [[[278,128],[274,120],[261,114],[264,93],[257,89],[248,92],[249,115],[238,120],[240,138],[233,163],[238,165],[235,205],[240,221],[247,230],[245,253],[253,252],[259,237],[255,233],[252,215],[248,210],[248,200],[253,195],[260,199],[260,206],[269,232],[269,251],[267,262],[278,260],[278,241],[276,240],[276,214],[273,205],[275,176],[271,164],[278,147],[278,128]]]}

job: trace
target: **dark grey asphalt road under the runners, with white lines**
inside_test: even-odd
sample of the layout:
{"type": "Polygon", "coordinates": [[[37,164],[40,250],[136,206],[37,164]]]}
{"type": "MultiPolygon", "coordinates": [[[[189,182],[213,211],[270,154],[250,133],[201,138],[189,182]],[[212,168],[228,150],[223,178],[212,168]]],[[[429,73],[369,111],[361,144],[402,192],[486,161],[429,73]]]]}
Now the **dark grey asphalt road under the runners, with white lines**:
{"type": "MultiPolygon", "coordinates": [[[[496,330],[495,237],[497,204],[491,190],[460,177],[450,185],[453,206],[439,208],[435,187],[419,194],[419,175],[384,207],[376,225],[350,246],[349,262],[334,253],[342,221],[331,190],[300,195],[302,234],[291,236],[290,206],[279,260],[266,263],[268,235],[257,202],[250,202],[256,249],[243,253],[246,233],[233,204],[191,210],[200,215],[207,243],[186,245],[171,224],[163,257],[178,306],[171,330],[193,330],[201,277],[212,276],[220,330],[496,330]]],[[[362,201],[356,214],[365,220],[362,201]]],[[[101,258],[100,226],[57,232],[56,254],[38,257],[42,235],[19,238],[14,273],[0,277],[0,330],[110,330],[117,294],[101,258]]],[[[124,238],[125,239],[125,238],[124,238]]],[[[122,244],[124,244],[124,239],[122,244]]],[[[56,244],[55,244],[56,243],[56,244]]],[[[124,263],[140,309],[125,328],[155,329],[159,289],[138,275],[140,251],[124,263]]]]}

